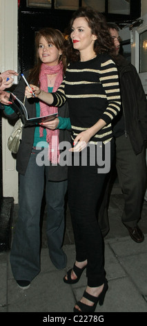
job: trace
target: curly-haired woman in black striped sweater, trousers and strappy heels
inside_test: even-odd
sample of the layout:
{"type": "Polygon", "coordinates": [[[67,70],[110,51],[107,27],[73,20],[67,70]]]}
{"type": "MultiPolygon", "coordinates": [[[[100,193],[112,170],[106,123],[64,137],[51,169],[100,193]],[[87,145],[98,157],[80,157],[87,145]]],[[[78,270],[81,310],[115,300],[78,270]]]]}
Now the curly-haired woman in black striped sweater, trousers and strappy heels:
{"type": "MultiPolygon", "coordinates": [[[[46,103],[59,106],[68,101],[74,141],[70,148],[73,164],[68,166],[68,203],[76,261],[63,280],[68,284],[78,282],[86,268],[88,285],[74,311],[92,312],[97,302],[103,304],[108,289],[101,231],[95,214],[108,169],[99,169],[102,160],[99,155],[103,150],[107,161],[112,162],[115,144],[111,121],[118,114],[121,101],[117,68],[110,56],[113,44],[104,16],[92,8],[80,8],[72,16],[70,28],[66,41],[70,63],[63,83],[52,94],[34,85],[32,88],[46,103]],[[76,155],[79,155],[78,164],[74,164],[76,155]]],[[[26,96],[32,96],[28,87],[26,96]]]]}

